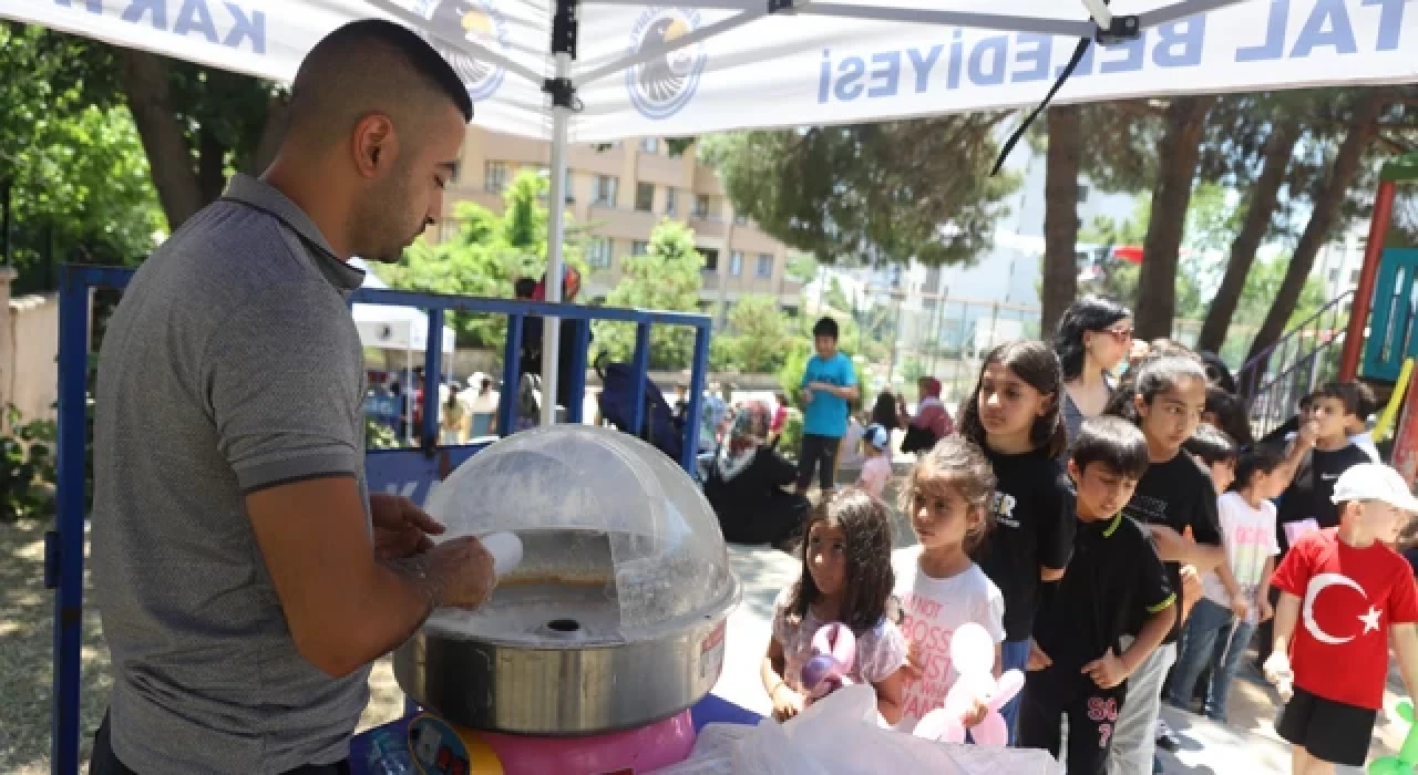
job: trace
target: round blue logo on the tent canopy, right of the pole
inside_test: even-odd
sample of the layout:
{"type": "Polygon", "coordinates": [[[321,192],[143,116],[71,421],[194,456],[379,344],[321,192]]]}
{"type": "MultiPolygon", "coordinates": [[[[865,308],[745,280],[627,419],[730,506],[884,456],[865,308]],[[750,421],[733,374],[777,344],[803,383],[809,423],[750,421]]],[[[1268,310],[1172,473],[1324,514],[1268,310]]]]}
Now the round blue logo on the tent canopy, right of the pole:
{"type": "Polygon", "coordinates": [[[705,69],[703,44],[669,48],[698,28],[699,14],[685,9],[648,9],[635,21],[630,52],[655,55],[625,71],[625,89],[631,105],[647,119],[666,119],[695,96],[705,69]]]}

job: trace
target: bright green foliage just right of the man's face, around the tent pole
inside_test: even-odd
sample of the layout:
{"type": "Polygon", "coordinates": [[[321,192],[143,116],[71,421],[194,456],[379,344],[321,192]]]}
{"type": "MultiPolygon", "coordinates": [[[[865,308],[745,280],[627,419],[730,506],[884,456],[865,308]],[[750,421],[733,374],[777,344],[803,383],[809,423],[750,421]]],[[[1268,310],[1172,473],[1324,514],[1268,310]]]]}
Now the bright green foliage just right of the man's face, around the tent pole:
{"type": "MultiPolygon", "coordinates": [[[[523,171],[502,194],[499,215],[476,203],[462,201],[454,210],[458,234],[430,244],[420,238],[404,251],[398,264],[374,266],[391,288],[459,296],[510,299],[512,285],[520,278],[540,278],[546,272],[547,181],[533,171],[523,171]]],[[[567,228],[567,234],[576,230],[567,228]]],[[[583,245],[579,238],[563,244],[563,259],[586,273],[583,245]]],[[[501,315],[454,313],[450,324],[459,347],[502,349],[506,317],[501,315]]]]}

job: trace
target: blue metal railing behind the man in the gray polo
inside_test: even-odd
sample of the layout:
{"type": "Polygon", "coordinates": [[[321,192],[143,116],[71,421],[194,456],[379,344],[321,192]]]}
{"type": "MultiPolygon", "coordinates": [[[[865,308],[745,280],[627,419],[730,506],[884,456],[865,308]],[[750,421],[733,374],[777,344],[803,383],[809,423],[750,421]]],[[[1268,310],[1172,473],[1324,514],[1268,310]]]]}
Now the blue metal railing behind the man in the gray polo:
{"type": "MultiPolygon", "coordinates": [[[[79,769],[79,649],[84,613],[84,523],[88,519],[85,499],[85,432],[88,424],[88,364],[89,364],[89,296],[95,289],[122,290],[133,276],[133,269],[108,266],[64,266],[60,278],[60,384],[58,384],[58,492],[57,528],[45,534],[45,587],[54,598],[54,697],[51,718],[50,771],[57,775],[77,775],[79,769]]],[[[452,468],[486,448],[488,443],[440,446],[438,391],[432,390],[442,374],[442,334],[447,312],[505,315],[508,334],[503,347],[503,400],[498,407],[498,434],[505,436],[513,428],[515,391],[520,378],[519,353],[522,322],[526,317],[554,316],[576,326],[579,347],[573,354],[570,378],[571,401],[567,421],[580,422],[586,392],[586,351],[590,346],[590,322],[613,320],[635,324],[635,404],[632,428],[645,422],[645,385],[649,380],[651,326],[691,326],[695,329],[695,354],[689,378],[688,417],[698,418],[703,401],[705,374],[709,367],[710,319],[705,315],[678,312],[649,312],[617,307],[586,307],[484,299],[475,296],[442,296],[407,290],[360,289],[350,302],[423,309],[428,315],[428,340],[424,351],[424,374],[428,390],[423,398],[420,446],[414,449],[372,449],[366,453],[366,473],[372,490],[393,490],[415,500],[427,496],[432,483],[444,479],[452,468]],[[510,394],[509,394],[510,390],[510,394]]],[[[554,401],[546,395],[543,401],[554,401]]],[[[679,463],[695,475],[699,446],[699,424],[685,424],[685,448],[679,463]]]]}

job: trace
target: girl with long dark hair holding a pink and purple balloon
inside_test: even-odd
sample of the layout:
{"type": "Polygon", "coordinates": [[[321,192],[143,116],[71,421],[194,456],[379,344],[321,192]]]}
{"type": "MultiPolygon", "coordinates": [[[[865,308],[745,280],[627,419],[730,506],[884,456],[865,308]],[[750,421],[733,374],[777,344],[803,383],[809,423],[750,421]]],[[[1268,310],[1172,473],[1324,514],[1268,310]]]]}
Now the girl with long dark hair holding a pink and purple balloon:
{"type": "Polygon", "coordinates": [[[855,653],[839,655],[845,677],[869,683],[888,724],[900,720],[902,664],[906,640],[888,615],[892,594],[891,516],[886,506],[856,487],[827,497],[814,509],[803,541],[803,571],[773,604],[773,636],[763,657],[763,689],[773,717],[803,711],[814,686],[804,667],[813,660],[820,629],[841,622],[855,636],[855,653]]]}

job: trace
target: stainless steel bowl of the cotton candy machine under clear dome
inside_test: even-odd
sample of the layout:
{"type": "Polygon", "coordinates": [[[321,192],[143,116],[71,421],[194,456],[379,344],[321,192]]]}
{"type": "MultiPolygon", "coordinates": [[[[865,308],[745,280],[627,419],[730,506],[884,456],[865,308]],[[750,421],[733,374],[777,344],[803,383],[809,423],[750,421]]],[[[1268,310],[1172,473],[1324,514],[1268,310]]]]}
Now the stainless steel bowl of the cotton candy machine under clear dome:
{"type": "Polygon", "coordinates": [[[535,735],[631,730],[693,706],[719,680],[737,581],[702,611],[623,630],[610,545],[604,533],[525,534],[522,565],[485,611],[461,629],[430,621],[394,652],[398,684],[454,724],[535,735]]]}

